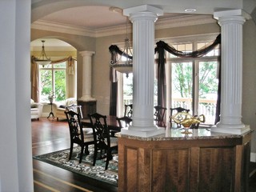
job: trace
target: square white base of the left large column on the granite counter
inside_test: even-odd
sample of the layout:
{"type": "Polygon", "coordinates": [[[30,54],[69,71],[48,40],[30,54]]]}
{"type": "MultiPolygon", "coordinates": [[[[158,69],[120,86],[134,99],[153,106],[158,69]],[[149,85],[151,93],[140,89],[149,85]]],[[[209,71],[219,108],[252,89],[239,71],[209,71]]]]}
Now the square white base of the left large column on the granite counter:
{"type": "MultiPolygon", "coordinates": [[[[138,130],[139,127],[136,127],[136,129],[130,129],[134,128],[130,126],[129,128],[122,128],[121,129],[121,134],[128,134],[132,136],[138,136],[142,138],[149,138],[158,134],[165,134],[166,130],[163,127],[154,127],[154,129],[150,128],[148,130],[138,130]]],[[[144,128],[144,127],[143,127],[144,128]]]]}

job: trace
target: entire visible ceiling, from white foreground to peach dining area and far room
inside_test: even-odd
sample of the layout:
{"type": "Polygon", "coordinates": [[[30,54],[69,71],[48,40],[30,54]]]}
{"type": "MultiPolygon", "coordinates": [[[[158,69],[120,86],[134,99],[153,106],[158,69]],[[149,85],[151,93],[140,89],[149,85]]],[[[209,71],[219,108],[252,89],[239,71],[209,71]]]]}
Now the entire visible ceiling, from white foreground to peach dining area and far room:
{"type": "MultiPolygon", "coordinates": [[[[48,24],[58,24],[83,30],[102,30],[114,26],[126,25],[126,17],[122,9],[148,4],[158,6],[164,15],[158,21],[166,18],[185,15],[186,8],[195,8],[193,14],[212,15],[216,10],[243,9],[248,13],[256,6],[256,0],[32,0],[31,21],[48,24]],[[110,7],[120,7],[111,11],[110,7]]],[[[46,48],[49,46],[70,46],[57,39],[45,39],[46,48]]],[[[31,42],[31,47],[42,46],[41,39],[31,42]]],[[[32,48],[33,49],[33,48],[32,48]]]]}

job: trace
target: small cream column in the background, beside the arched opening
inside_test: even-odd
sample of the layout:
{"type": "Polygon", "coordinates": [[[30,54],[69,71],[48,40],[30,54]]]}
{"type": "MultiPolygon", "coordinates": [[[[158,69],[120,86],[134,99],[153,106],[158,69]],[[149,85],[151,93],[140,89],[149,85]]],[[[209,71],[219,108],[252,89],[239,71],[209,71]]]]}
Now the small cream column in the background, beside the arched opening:
{"type": "Polygon", "coordinates": [[[82,54],[82,98],[80,101],[90,102],[95,101],[91,96],[91,57],[95,54],[94,51],[81,51],[82,54]]]}

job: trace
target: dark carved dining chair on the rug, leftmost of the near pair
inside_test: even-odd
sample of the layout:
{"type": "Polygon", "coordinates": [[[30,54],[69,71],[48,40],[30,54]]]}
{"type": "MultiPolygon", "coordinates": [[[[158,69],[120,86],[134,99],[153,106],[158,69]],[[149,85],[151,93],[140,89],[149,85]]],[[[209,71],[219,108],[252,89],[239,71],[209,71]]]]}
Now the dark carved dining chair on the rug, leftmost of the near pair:
{"type": "Polygon", "coordinates": [[[94,134],[91,128],[82,128],[80,121],[80,114],[73,110],[65,111],[66,119],[70,128],[70,157],[72,158],[74,143],[81,146],[79,163],[82,162],[83,151],[85,154],[89,154],[88,146],[94,144],[94,134]],[[86,147],[86,148],[85,148],[86,147]]]}

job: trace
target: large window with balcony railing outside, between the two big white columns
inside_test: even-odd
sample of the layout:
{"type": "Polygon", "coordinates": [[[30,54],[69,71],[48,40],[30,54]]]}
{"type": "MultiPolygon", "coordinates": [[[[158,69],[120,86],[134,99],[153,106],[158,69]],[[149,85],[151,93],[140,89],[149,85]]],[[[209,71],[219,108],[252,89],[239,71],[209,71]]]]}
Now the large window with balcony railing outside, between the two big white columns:
{"type": "MultiPolygon", "coordinates": [[[[190,52],[206,46],[208,42],[177,43],[172,46],[190,52]]],[[[218,47],[202,58],[177,58],[167,54],[167,108],[182,106],[190,109],[191,114],[204,114],[206,124],[214,124],[218,94],[218,55],[218,47]]]]}

